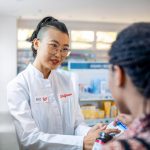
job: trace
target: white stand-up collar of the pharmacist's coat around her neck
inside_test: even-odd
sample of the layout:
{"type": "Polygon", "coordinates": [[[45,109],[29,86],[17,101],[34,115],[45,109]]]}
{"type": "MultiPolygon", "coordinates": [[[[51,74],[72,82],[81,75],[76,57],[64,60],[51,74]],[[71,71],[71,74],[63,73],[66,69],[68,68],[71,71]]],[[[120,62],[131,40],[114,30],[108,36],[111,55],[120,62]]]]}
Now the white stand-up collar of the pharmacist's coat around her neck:
{"type": "MultiPolygon", "coordinates": [[[[32,73],[33,73],[35,76],[44,79],[43,73],[42,73],[41,71],[39,71],[36,67],[34,67],[33,64],[30,63],[30,64],[28,65],[28,68],[32,71],[32,73]]],[[[50,75],[48,76],[48,79],[51,78],[52,72],[53,72],[53,71],[51,70],[51,73],[50,73],[50,75]]],[[[47,80],[47,79],[45,79],[45,80],[47,80]]]]}

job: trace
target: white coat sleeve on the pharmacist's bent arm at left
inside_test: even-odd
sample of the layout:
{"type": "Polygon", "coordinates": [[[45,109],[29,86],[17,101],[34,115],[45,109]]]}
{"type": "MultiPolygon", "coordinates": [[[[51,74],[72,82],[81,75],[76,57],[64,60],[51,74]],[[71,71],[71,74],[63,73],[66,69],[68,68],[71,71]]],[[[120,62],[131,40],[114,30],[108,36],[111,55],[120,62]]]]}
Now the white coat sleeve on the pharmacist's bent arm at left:
{"type": "Polygon", "coordinates": [[[21,85],[7,87],[7,101],[22,150],[82,150],[83,136],[47,134],[36,126],[28,93],[21,85]]]}

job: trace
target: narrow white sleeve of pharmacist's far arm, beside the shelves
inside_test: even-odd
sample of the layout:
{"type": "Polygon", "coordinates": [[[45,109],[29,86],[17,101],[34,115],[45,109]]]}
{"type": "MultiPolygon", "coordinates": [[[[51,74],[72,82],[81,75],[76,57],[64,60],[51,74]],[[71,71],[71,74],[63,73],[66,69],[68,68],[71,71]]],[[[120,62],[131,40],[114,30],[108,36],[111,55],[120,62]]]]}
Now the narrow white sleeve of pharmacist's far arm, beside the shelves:
{"type": "Polygon", "coordinates": [[[74,100],[75,100],[75,112],[76,112],[76,122],[75,122],[75,134],[80,136],[87,135],[88,131],[91,129],[84,120],[83,114],[81,112],[81,108],[79,105],[79,82],[78,76],[75,73],[71,73],[71,81],[73,84],[73,91],[75,93],[74,100]]]}

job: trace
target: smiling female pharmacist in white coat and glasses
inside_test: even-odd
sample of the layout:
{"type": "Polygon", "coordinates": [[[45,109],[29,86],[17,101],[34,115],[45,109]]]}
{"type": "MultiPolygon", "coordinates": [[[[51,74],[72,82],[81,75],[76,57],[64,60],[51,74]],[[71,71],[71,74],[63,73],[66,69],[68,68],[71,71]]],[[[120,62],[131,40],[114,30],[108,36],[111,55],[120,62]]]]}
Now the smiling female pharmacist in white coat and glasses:
{"type": "Polygon", "coordinates": [[[71,75],[56,70],[70,54],[65,24],[46,17],[30,41],[35,60],[7,87],[20,149],[81,150],[83,143],[91,146],[103,127],[84,124],[71,75]]]}

